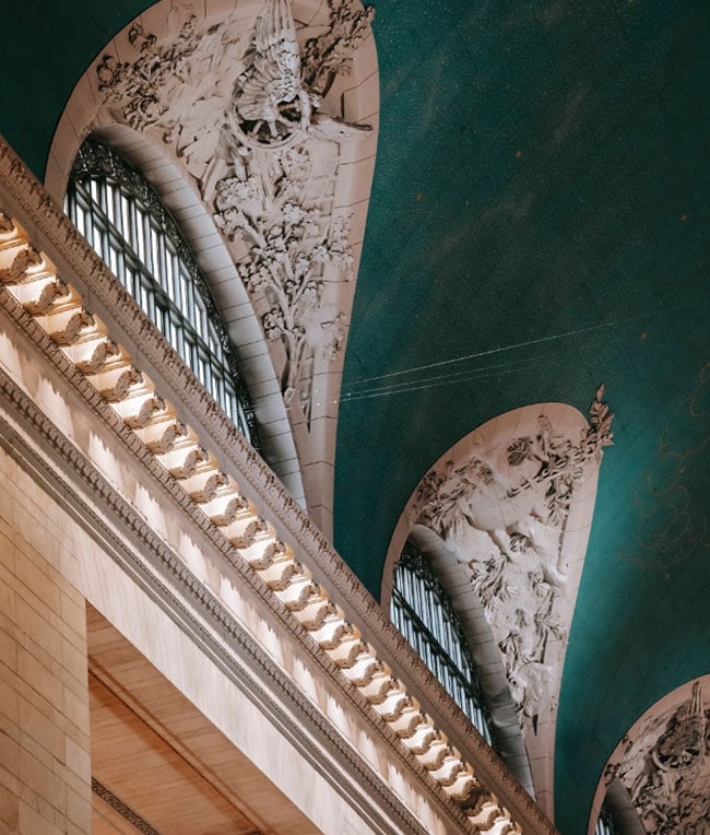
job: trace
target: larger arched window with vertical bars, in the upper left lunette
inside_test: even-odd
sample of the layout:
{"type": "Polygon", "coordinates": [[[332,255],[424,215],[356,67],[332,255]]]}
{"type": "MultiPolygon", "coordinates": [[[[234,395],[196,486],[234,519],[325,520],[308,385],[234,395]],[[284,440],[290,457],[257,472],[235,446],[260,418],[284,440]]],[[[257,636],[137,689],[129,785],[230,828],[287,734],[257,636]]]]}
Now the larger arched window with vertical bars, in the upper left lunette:
{"type": "Polygon", "coordinates": [[[237,428],[260,449],[234,346],[176,222],[150,184],[108,145],[87,139],[67,212],[237,428]]]}

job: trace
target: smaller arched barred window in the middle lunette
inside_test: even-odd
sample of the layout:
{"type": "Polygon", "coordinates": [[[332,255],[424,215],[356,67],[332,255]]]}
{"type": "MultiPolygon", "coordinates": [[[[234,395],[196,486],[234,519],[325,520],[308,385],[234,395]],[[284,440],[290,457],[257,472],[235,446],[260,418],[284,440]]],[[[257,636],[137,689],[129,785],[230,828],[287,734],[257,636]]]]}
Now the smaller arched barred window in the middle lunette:
{"type": "Polygon", "coordinates": [[[390,616],[481,736],[493,744],[463,627],[428,562],[410,543],[404,546],[394,573],[390,616]]]}

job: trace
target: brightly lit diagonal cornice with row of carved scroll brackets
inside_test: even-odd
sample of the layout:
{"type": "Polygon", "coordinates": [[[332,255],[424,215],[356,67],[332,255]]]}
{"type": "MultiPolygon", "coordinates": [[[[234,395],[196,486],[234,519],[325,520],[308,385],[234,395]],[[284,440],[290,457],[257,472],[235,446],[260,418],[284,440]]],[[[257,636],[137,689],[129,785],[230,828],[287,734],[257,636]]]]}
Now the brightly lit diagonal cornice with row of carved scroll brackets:
{"type": "MultiPolygon", "coordinates": [[[[191,529],[206,537],[212,544],[205,553],[216,548],[229,571],[255,589],[258,605],[301,643],[358,722],[379,729],[378,738],[402,760],[404,773],[421,781],[417,791],[425,790],[439,814],[477,832],[552,832],[323,537],[7,148],[0,176],[10,215],[2,220],[0,263],[5,309],[22,318],[26,338],[119,434],[121,455],[130,450],[171,496],[170,513],[179,508],[191,529]],[[45,285],[54,284],[56,292],[46,293],[45,285]],[[46,301],[36,307],[40,296],[46,301]],[[92,301],[91,313],[84,298],[92,301]],[[120,366],[128,376],[118,385],[120,366]]],[[[58,413],[66,411],[63,400],[59,405],[58,413]]],[[[110,445],[105,449],[113,451],[110,445]]],[[[111,464],[108,472],[121,468],[111,464]]],[[[128,493],[135,501],[134,489],[128,493]]],[[[150,493],[139,495],[147,502],[141,518],[161,506],[150,493]]],[[[138,517],[129,515],[137,525],[138,517]]],[[[200,566],[202,550],[190,553],[200,566]]],[[[202,568],[190,588],[206,595],[210,610],[228,612],[234,600],[221,598],[223,587],[218,581],[210,587],[211,578],[214,583],[202,568]]],[[[267,636],[259,639],[269,646],[267,636]]]]}

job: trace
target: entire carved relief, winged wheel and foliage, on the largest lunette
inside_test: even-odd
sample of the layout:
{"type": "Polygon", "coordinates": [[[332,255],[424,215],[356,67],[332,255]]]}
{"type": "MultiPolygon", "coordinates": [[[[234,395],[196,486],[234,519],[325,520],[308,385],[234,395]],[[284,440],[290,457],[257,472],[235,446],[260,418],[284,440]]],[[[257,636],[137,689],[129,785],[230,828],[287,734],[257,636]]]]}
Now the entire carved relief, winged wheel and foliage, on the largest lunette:
{"type": "Polygon", "coordinates": [[[194,178],[265,336],[282,345],[274,360],[284,398],[307,421],[316,360],[335,358],[347,331],[336,296],[324,292],[352,278],[350,219],[333,208],[341,143],[369,131],[327,95],[369,33],[371,11],[329,0],[328,12],[301,55],[288,0],[267,0],[247,26],[174,10],[165,38],[135,23],[137,56],[105,56],[97,67],[114,116],[157,133],[194,178]]]}

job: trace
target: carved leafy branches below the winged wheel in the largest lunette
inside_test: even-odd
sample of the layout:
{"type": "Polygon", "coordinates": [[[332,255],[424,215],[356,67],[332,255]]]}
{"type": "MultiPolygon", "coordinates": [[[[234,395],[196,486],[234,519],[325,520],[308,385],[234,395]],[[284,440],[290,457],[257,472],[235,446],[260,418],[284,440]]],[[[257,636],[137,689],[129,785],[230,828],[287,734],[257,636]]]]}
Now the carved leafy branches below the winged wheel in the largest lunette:
{"type": "Polygon", "coordinates": [[[353,262],[347,220],[331,221],[327,207],[332,197],[313,193],[311,174],[306,146],[249,150],[235,157],[215,198],[220,228],[227,237],[248,243],[239,266],[248,290],[264,295],[270,305],[263,317],[265,334],[283,342],[284,398],[293,403],[298,391],[306,414],[310,383],[305,366],[312,363],[316,350],[332,358],[346,329],[341,311],[322,315],[327,269],[351,278],[353,262]]]}

